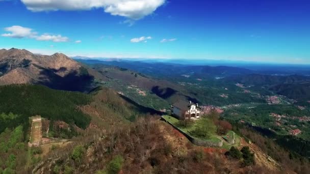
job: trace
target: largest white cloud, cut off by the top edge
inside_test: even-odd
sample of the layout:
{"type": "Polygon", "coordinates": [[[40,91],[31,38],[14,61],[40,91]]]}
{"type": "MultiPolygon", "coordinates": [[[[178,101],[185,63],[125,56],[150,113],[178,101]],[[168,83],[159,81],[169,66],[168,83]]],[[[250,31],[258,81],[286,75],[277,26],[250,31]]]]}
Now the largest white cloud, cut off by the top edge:
{"type": "Polygon", "coordinates": [[[106,13],[139,20],[152,14],[166,0],[21,0],[31,11],[91,10],[102,8],[106,13]]]}

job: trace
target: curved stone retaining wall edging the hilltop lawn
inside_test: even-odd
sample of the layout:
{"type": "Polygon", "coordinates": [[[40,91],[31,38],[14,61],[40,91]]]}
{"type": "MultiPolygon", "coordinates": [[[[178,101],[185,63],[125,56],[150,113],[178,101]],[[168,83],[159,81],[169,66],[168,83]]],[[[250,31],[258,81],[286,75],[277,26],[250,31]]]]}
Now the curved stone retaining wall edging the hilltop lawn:
{"type": "Polygon", "coordinates": [[[186,136],[193,144],[197,146],[204,146],[204,147],[222,147],[223,146],[223,140],[220,140],[219,142],[214,141],[208,141],[208,140],[201,140],[198,138],[194,138],[188,133],[184,132],[183,130],[179,129],[178,127],[174,126],[172,123],[167,121],[165,118],[162,117],[163,120],[165,120],[167,123],[169,123],[171,126],[173,126],[176,130],[181,132],[184,136],[186,136]]]}

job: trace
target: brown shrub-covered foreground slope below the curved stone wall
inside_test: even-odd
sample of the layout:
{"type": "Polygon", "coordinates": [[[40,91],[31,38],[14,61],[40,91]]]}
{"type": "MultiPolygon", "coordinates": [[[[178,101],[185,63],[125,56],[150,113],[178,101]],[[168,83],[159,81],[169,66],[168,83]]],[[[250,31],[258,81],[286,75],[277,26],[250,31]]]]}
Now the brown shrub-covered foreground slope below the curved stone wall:
{"type": "Polygon", "coordinates": [[[49,173],[56,166],[61,171],[70,166],[74,173],[107,171],[117,155],[123,159],[122,173],[274,172],[262,166],[241,167],[238,161],[226,158],[220,149],[206,151],[203,147],[193,146],[173,130],[170,125],[159,121],[159,117],[141,117],[135,123],[114,127],[106,134],[89,129],[83,138],[52,151],[51,158],[46,158],[35,173],[49,173]],[[75,147],[82,149],[79,153],[77,150],[73,152],[75,147]],[[74,158],[71,158],[72,154],[74,158]]]}

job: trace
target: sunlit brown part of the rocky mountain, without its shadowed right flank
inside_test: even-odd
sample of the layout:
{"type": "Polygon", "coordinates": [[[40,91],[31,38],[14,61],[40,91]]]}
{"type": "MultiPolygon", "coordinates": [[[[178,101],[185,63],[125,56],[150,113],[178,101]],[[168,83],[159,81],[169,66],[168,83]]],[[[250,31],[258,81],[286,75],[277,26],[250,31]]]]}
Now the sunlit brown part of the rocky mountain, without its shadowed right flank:
{"type": "Polygon", "coordinates": [[[38,55],[16,48],[0,50],[0,66],[2,67],[0,85],[33,83],[42,79],[49,81],[55,80],[55,77],[61,79],[69,73],[79,73],[81,67],[63,53],[38,55]]]}

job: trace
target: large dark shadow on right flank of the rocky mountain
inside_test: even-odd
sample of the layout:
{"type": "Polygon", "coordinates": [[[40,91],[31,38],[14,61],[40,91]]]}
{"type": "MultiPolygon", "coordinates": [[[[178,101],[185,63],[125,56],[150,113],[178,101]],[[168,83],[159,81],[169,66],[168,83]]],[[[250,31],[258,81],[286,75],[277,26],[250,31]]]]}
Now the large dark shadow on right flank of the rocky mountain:
{"type": "Polygon", "coordinates": [[[56,73],[66,71],[65,67],[59,70],[43,68],[41,70],[40,75],[43,76],[39,78],[40,82],[38,83],[51,89],[79,92],[87,92],[92,89],[94,77],[88,73],[81,74],[78,71],[72,71],[62,77],[56,73]]]}

